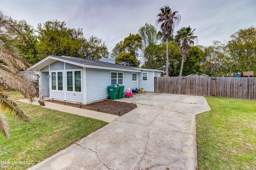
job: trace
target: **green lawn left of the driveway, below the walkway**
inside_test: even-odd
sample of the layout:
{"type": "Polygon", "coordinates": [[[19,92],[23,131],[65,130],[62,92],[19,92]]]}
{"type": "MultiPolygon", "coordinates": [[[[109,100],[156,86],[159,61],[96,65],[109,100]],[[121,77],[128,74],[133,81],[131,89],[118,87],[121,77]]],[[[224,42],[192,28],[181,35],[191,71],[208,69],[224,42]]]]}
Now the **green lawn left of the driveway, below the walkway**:
{"type": "MultiPolygon", "coordinates": [[[[20,98],[16,92],[9,95],[20,98]]],[[[8,117],[9,139],[0,133],[0,169],[26,169],[31,163],[42,161],[107,124],[40,106],[18,104],[32,120],[17,121],[8,117]]]]}

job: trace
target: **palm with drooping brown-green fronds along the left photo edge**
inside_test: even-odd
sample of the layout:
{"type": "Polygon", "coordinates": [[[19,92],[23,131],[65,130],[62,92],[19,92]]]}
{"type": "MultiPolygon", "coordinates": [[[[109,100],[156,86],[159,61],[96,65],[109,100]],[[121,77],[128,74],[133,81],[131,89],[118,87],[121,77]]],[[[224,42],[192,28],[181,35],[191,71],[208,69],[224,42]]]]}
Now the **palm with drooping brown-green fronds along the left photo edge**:
{"type": "Polygon", "coordinates": [[[9,137],[8,123],[3,112],[18,120],[30,120],[18,105],[10,100],[5,93],[7,90],[16,90],[30,102],[38,96],[38,83],[21,74],[20,70],[27,70],[29,65],[18,55],[12,37],[24,40],[22,33],[16,29],[12,19],[0,11],[0,131],[6,138],[9,137]]]}

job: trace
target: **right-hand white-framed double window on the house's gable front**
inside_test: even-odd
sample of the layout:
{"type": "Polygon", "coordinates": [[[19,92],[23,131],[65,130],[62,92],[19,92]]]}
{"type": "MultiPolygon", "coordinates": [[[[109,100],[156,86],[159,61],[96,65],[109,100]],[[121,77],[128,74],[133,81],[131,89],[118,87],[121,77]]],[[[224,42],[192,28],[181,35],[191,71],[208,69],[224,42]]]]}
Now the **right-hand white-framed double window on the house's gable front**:
{"type": "Polygon", "coordinates": [[[82,92],[81,86],[81,71],[67,71],[67,91],[82,92]]]}

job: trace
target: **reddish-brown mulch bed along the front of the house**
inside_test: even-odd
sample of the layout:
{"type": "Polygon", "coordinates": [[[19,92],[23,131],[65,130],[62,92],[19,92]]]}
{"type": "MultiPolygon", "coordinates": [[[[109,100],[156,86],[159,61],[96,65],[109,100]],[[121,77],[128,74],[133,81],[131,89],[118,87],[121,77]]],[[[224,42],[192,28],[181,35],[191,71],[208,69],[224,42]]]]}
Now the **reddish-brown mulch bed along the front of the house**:
{"type": "MultiPolygon", "coordinates": [[[[44,102],[52,102],[52,100],[44,100],[44,102]]],[[[65,102],[54,100],[55,104],[64,105],[65,102]]],[[[46,103],[47,104],[47,103],[46,103]]],[[[66,102],[66,106],[80,107],[80,104],[66,102]]],[[[120,116],[128,113],[129,111],[137,107],[136,103],[118,102],[114,100],[102,100],[100,102],[94,102],[91,104],[81,105],[82,109],[88,109],[93,111],[98,111],[98,106],[100,106],[99,111],[103,113],[108,113],[112,115],[119,115],[118,109],[120,108],[120,116]]]]}

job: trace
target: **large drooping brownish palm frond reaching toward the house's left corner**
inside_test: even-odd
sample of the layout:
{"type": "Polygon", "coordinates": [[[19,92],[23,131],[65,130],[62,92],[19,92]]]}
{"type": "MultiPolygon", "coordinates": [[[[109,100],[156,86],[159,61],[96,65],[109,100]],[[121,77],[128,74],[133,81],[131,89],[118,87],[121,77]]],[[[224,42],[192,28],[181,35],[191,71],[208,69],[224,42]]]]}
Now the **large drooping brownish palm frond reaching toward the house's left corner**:
{"type": "Polygon", "coordinates": [[[8,89],[20,92],[30,102],[39,96],[38,81],[14,70],[11,67],[0,64],[0,84],[8,89]]]}

